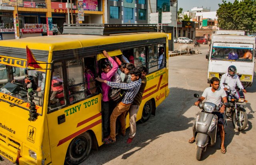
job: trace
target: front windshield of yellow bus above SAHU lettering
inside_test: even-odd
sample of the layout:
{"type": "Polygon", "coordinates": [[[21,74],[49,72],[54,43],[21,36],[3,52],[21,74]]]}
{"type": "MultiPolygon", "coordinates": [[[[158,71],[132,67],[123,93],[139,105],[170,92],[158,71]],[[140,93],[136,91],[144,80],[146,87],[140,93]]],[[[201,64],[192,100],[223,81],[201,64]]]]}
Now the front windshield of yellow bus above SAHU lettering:
{"type": "Polygon", "coordinates": [[[42,106],[42,91],[44,90],[45,73],[42,71],[28,70],[0,64],[0,92],[23,101],[28,100],[28,88],[34,92],[33,102],[42,106]],[[29,79],[30,83],[25,79],[29,79]]]}

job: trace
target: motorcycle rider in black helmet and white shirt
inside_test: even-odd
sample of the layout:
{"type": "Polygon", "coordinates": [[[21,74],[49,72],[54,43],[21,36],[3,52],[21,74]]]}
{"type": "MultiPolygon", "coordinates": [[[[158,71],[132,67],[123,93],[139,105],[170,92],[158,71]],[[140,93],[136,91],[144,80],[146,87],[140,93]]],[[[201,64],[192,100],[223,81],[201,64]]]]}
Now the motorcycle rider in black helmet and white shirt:
{"type": "Polygon", "coordinates": [[[238,75],[236,75],[236,67],[234,65],[230,65],[228,67],[228,73],[222,75],[220,79],[220,88],[227,91],[228,88],[223,83],[227,83],[228,86],[230,86],[230,90],[232,91],[232,93],[236,92],[236,85],[238,86],[238,88],[240,88],[240,90],[246,93],[246,90],[244,89],[244,86],[242,85],[238,75]]]}

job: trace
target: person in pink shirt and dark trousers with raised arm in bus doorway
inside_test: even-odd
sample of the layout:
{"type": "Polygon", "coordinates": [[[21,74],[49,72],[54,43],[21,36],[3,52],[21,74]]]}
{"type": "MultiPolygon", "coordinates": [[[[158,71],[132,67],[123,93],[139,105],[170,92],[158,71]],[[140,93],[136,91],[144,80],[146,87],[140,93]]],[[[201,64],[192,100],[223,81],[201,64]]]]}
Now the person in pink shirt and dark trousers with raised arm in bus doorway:
{"type": "MultiPolygon", "coordinates": [[[[103,51],[103,54],[105,57],[108,58],[110,63],[112,63],[112,69],[110,67],[110,63],[108,62],[103,62],[101,64],[101,78],[104,81],[110,81],[113,75],[116,73],[118,69],[117,63],[112,59],[106,51],[103,51]]],[[[110,103],[109,103],[109,98],[108,98],[108,92],[110,90],[110,86],[108,86],[105,83],[101,84],[102,88],[102,124],[103,124],[103,138],[107,138],[110,134],[110,103]]]]}

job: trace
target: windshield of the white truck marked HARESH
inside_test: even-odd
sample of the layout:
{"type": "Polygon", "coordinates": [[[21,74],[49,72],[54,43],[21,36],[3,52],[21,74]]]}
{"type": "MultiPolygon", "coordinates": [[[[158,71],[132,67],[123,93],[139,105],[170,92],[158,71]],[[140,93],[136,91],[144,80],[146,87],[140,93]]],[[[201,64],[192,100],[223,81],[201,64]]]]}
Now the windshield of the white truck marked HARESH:
{"type": "Polygon", "coordinates": [[[252,52],[252,44],[213,43],[211,59],[252,62],[252,52]]]}

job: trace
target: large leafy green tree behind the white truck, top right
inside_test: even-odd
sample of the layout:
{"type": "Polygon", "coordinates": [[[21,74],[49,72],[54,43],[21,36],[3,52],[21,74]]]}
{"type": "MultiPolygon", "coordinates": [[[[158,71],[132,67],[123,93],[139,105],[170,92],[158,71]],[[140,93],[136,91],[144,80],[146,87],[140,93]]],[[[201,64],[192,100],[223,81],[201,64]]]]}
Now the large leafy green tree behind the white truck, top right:
{"type": "Polygon", "coordinates": [[[217,10],[218,25],[226,30],[244,30],[256,32],[256,0],[235,0],[218,4],[217,10]]]}

